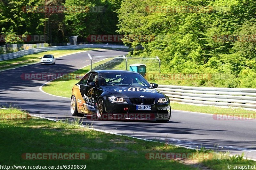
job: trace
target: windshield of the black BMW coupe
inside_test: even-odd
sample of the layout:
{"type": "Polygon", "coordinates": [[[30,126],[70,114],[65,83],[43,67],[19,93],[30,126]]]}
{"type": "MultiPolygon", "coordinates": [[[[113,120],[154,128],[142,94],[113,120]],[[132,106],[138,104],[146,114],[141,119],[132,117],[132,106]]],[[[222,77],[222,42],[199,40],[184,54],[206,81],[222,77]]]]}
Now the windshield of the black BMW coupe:
{"type": "Polygon", "coordinates": [[[102,73],[102,86],[146,86],[150,87],[148,81],[136,73],[102,73]]]}

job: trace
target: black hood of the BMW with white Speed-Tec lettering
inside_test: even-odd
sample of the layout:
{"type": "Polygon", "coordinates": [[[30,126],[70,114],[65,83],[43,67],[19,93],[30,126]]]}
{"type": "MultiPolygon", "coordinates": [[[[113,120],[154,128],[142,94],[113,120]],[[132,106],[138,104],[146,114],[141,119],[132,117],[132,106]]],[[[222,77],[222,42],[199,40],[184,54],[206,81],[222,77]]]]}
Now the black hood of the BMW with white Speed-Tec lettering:
{"type": "Polygon", "coordinates": [[[106,90],[116,97],[122,97],[124,99],[128,98],[162,98],[165,95],[161,92],[158,92],[156,89],[148,87],[138,87],[138,86],[102,86],[103,90],[106,90]]]}

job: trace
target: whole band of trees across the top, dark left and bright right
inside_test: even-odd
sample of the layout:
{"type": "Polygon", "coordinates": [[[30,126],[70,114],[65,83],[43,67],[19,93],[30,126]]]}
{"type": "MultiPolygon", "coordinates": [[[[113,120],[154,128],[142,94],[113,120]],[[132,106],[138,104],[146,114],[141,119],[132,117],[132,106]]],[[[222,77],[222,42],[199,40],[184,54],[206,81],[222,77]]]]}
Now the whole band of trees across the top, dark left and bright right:
{"type": "Polygon", "coordinates": [[[175,85],[256,88],[255,18],[254,0],[0,1],[0,34],[46,34],[48,43],[68,42],[71,35],[124,34],[129,37],[124,43],[136,49],[131,55],[159,56],[162,73],[212,74],[207,80],[165,81],[175,85]],[[104,12],[45,15],[21,10],[26,5],[45,4],[104,6],[104,12]],[[200,12],[179,12],[159,11],[154,6],[206,8],[200,12]],[[134,35],[140,38],[131,41],[134,35]],[[225,35],[230,35],[230,39],[225,35]],[[145,36],[150,37],[149,41],[142,40],[145,36]],[[143,48],[137,48],[140,46],[143,48]]]}

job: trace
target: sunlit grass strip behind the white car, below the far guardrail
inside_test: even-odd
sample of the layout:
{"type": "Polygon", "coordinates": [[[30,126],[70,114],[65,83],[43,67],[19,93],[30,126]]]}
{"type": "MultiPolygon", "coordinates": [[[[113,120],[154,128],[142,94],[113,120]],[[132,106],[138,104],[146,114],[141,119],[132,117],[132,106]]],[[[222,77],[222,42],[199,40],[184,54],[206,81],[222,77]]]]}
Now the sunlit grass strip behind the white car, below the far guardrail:
{"type": "Polygon", "coordinates": [[[11,60],[4,60],[0,62],[0,70],[16,68],[28,64],[38,63],[40,62],[40,58],[45,54],[52,54],[55,58],[58,58],[63,55],[68,55],[76,52],[84,52],[93,50],[92,48],[81,48],[74,50],[55,50],[55,51],[45,51],[36,54],[24,55],[22,57],[14,58],[11,60]]]}

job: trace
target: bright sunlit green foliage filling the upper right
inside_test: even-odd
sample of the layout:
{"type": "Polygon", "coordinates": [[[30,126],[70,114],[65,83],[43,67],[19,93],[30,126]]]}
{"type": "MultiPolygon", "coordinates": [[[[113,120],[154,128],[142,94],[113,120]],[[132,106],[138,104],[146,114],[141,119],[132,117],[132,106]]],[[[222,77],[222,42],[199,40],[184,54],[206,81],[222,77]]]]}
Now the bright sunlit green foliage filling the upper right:
{"type": "Polygon", "coordinates": [[[151,35],[152,41],[126,41],[144,49],[133,55],[159,56],[161,72],[213,73],[209,80],[170,81],[176,85],[256,87],[255,37],[225,41],[217,35],[255,35],[253,0],[124,0],[118,32],[151,35]],[[212,6],[209,12],[155,12],[150,6],[212,6]],[[218,75],[218,76],[216,76],[218,75]]]}

